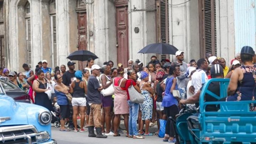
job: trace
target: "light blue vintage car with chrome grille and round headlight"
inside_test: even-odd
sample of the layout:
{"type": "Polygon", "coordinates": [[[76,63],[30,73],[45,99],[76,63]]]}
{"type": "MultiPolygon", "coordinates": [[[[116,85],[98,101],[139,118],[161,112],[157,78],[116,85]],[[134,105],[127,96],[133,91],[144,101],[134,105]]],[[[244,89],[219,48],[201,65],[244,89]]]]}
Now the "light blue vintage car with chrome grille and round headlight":
{"type": "Polygon", "coordinates": [[[0,144],[44,143],[51,139],[51,113],[42,106],[15,102],[0,83],[0,144]]]}

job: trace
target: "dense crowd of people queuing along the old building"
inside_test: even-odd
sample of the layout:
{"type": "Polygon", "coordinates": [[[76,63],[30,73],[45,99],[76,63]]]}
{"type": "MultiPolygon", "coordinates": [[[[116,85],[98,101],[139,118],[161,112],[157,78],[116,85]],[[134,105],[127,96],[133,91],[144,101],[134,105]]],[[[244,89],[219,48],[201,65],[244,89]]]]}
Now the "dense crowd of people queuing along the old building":
{"type": "MultiPolygon", "coordinates": [[[[227,66],[224,58],[206,54],[206,58],[184,61],[184,52],[177,51],[176,61],[159,61],[152,56],[144,65],[139,59],[128,60],[128,67],[113,61],[104,62],[100,67],[88,59],[83,70],[75,71],[75,63],[69,61],[53,70],[42,60],[35,69],[23,64],[25,73],[3,69],[0,74],[26,91],[33,103],[49,110],[60,110],[61,131],[84,132],[88,128],[89,137],[107,138],[123,133],[119,125],[121,118],[128,138],[142,139],[154,135],[149,127],[166,120],[164,142],[175,142],[173,125],[168,117],[179,113],[180,105],[196,104],[203,85],[211,78],[230,78],[228,97],[222,101],[254,100],[256,81],[256,56],[254,50],[244,46],[241,53],[227,66]],[[129,89],[143,96],[143,103],[130,101],[129,89]],[[113,94],[105,94],[113,89],[113,94]],[[46,91],[51,91],[51,99],[46,91]],[[104,93],[103,93],[104,92],[104,93]],[[53,102],[53,103],[52,103],[53,102]],[[81,119],[81,126],[77,119],[81,119]],[[69,120],[69,129],[65,122],[69,120]],[[137,125],[139,129],[137,130],[137,125]],[[145,125],[145,130],[143,129],[145,125]],[[96,134],[94,133],[96,131],[96,134]]],[[[218,82],[213,82],[209,90],[220,95],[218,82]]],[[[130,91],[131,93],[131,91],[130,91]]],[[[206,94],[205,101],[218,101],[206,94]]],[[[209,105],[206,111],[218,111],[216,105],[209,105]]]]}

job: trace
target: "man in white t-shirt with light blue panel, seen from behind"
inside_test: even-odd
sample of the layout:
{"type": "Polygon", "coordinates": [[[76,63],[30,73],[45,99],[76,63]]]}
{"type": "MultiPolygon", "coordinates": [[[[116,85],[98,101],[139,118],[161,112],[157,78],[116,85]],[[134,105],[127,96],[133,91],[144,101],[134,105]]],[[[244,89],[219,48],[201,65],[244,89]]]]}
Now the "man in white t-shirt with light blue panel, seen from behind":
{"type": "Polygon", "coordinates": [[[189,88],[191,93],[196,93],[202,87],[202,84],[208,81],[205,73],[208,68],[208,62],[204,58],[201,58],[197,61],[197,66],[198,70],[191,77],[191,87],[189,88]]]}

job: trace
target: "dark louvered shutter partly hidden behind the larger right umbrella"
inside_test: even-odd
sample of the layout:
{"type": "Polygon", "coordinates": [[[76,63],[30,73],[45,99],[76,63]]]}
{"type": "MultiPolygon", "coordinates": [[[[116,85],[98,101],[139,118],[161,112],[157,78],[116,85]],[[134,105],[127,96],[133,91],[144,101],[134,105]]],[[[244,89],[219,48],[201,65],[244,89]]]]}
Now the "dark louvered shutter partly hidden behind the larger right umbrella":
{"type": "MultiPolygon", "coordinates": [[[[169,43],[169,6],[168,0],[160,1],[160,35],[162,43],[169,43]]],[[[161,55],[161,59],[166,59],[167,55],[161,55]]]]}

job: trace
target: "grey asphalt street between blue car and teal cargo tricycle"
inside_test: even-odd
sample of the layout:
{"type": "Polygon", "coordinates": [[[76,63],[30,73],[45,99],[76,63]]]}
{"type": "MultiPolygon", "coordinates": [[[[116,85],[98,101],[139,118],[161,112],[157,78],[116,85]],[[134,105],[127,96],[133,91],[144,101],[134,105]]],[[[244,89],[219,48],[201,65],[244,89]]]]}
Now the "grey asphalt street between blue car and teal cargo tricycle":
{"type": "MultiPolygon", "coordinates": [[[[147,136],[145,139],[133,139],[125,137],[125,134],[121,134],[120,137],[108,136],[107,138],[89,138],[88,132],[74,132],[72,131],[59,131],[59,128],[52,127],[51,129],[52,138],[55,139],[58,144],[167,144],[167,142],[162,142],[162,138],[154,136],[147,136]]],[[[96,133],[96,132],[95,132],[96,133]]]]}

